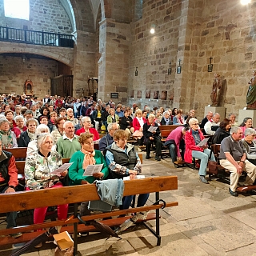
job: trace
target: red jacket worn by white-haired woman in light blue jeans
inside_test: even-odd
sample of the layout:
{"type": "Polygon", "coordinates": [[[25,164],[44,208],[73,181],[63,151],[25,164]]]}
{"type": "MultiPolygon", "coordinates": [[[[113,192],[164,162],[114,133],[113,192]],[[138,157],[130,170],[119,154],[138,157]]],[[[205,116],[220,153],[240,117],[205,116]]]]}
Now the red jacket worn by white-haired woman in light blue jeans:
{"type": "MultiPolygon", "coordinates": [[[[205,138],[202,134],[201,130],[198,130],[199,132],[199,136],[201,138],[201,141],[205,138]]],[[[185,154],[184,154],[184,160],[185,162],[192,162],[192,150],[195,151],[203,151],[202,147],[196,146],[195,142],[194,142],[194,137],[192,135],[192,130],[188,130],[185,134],[185,144],[186,144],[186,148],[185,148],[185,154]]]]}

